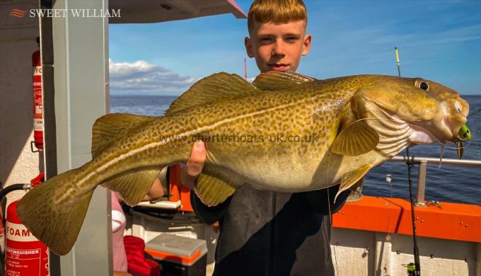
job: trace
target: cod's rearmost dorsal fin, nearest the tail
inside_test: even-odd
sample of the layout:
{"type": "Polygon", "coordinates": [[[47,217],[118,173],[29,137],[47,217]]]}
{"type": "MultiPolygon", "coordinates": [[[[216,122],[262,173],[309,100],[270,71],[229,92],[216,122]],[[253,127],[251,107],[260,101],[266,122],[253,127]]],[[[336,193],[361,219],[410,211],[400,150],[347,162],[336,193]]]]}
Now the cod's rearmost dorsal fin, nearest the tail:
{"type": "Polygon", "coordinates": [[[110,113],[98,118],[92,127],[92,159],[130,130],[151,122],[156,117],[126,113],[110,113]]]}

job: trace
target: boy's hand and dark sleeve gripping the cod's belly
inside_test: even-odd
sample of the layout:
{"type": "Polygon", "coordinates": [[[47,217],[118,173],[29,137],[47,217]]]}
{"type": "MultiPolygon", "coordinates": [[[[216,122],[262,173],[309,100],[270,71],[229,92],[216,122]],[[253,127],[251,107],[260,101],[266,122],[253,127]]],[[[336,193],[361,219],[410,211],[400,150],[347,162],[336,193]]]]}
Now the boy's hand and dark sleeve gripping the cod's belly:
{"type": "Polygon", "coordinates": [[[180,171],[180,183],[187,188],[190,188],[192,192],[190,193],[190,204],[194,209],[195,214],[199,219],[206,224],[213,224],[219,221],[222,216],[224,216],[229,203],[231,202],[231,197],[226,201],[215,207],[208,207],[204,205],[199,197],[195,195],[195,181],[202,173],[202,168],[204,168],[205,159],[207,156],[207,151],[205,149],[204,142],[195,142],[192,147],[192,152],[190,153],[190,158],[185,163],[184,168],[180,171]]]}

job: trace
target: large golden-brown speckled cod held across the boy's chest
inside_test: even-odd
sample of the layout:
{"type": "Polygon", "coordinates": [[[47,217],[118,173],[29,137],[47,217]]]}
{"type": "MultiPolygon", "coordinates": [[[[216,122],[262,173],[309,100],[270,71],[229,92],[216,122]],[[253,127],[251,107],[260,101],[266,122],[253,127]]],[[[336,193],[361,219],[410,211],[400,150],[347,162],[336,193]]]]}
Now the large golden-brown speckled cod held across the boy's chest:
{"type": "Polygon", "coordinates": [[[217,205],[245,183],[277,192],[341,183],[341,192],[407,146],[461,140],[468,111],[458,92],[419,78],[269,72],[250,84],[214,74],[161,117],[100,117],[92,161],[34,188],[17,211],[33,235],[64,255],[98,185],[136,205],[163,167],[187,161],[197,139],[207,161],[195,192],[217,205]]]}

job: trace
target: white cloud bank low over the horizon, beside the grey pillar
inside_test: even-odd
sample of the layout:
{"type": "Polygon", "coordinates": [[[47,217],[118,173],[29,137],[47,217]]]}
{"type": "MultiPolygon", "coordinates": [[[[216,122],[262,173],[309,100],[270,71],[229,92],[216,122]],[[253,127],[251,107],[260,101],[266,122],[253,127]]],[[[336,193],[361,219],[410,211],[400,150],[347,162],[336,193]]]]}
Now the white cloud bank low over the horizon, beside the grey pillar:
{"type": "Polygon", "coordinates": [[[179,95],[197,81],[144,60],[129,63],[109,59],[109,70],[110,93],[114,95],[179,95]]]}

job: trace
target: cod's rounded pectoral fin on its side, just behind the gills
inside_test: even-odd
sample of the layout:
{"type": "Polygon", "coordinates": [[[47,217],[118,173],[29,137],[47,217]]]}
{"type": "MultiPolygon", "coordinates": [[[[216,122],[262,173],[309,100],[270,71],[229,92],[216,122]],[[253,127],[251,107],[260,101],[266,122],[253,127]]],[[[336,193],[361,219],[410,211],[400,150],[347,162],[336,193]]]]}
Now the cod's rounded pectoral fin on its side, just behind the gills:
{"type": "Polygon", "coordinates": [[[335,154],[358,156],[376,148],[379,135],[376,130],[361,120],[353,122],[332,142],[335,154]]]}

